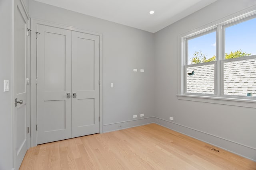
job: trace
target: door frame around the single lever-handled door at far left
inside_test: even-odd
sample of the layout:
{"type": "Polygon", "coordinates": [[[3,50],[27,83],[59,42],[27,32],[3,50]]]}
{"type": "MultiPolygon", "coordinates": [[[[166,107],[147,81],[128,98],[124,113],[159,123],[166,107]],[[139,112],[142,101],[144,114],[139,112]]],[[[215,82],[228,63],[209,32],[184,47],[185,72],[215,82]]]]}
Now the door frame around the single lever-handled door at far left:
{"type": "MultiPolygon", "coordinates": [[[[15,2],[16,0],[12,0],[12,37],[11,37],[11,42],[12,42],[12,77],[11,77],[11,84],[10,84],[10,92],[12,93],[12,169],[14,170],[15,168],[15,165],[16,165],[16,152],[15,152],[15,144],[16,144],[16,119],[15,119],[15,104],[14,104],[14,99],[15,99],[15,90],[14,90],[14,41],[15,41],[15,37],[14,37],[14,20],[15,20],[15,2]]],[[[23,12],[24,12],[24,17],[25,19],[28,21],[27,23],[27,28],[30,29],[30,17],[28,15],[28,10],[26,9],[26,6],[23,2],[23,0],[17,0],[18,3],[17,3],[17,6],[19,9],[22,9],[23,12]]],[[[30,126],[30,36],[27,37],[27,42],[26,42],[26,57],[27,57],[27,77],[29,78],[29,84],[27,86],[27,97],[28,97],[28,100],[27,100],[27,125],[29,127],[29,133],[28,133],[28,145],[27,145],[27,149],[29,149],[31,147],[31,133],[30,133],[30,129],[31,129],[31,126],[30,126]]]]}

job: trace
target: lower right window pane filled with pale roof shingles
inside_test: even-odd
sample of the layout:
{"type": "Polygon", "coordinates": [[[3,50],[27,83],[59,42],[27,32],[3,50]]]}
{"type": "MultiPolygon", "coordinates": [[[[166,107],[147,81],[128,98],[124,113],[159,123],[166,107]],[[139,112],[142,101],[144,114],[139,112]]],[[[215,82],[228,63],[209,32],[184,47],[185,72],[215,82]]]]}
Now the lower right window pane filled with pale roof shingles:
{"type": "Polygon", "coordinates": [[[256,59],[224,63],[224,95],[256,96],[256,59]],[[250,94],[251,93],[251,94],[250,94]]]}

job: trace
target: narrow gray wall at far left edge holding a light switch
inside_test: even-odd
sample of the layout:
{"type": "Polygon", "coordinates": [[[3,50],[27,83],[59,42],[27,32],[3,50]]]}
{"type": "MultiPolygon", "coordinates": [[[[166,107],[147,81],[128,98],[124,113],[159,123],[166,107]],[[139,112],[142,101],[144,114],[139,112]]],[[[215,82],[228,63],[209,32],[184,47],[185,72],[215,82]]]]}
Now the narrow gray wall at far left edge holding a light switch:
{"type": "Polygon", "coordinates": [[[0,170],[12,168],[12,1],[0,0],[0,170]],[[4,80],[10,91],[3,92],[4,80]]]}

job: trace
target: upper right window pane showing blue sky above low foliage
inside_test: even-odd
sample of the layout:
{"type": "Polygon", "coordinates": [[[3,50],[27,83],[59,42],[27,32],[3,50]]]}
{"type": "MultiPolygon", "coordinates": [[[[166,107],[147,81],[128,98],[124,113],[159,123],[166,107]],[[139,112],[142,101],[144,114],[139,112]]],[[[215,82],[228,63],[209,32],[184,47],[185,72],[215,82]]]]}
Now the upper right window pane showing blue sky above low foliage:
{"type": "Polygon", "coordinates": [[[256,18],[226,27],[225,59],[256,55],[256,18]]]}

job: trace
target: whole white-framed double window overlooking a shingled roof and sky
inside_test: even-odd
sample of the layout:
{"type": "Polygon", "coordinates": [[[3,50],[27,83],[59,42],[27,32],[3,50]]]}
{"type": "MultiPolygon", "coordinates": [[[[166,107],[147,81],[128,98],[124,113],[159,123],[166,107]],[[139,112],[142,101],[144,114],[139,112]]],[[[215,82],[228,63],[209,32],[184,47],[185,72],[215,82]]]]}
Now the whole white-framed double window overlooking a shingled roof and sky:
{"type": "Polygon", "coordinates": [[[256,100],[256,15],[181,37],[181,94],[256,100]]]}

